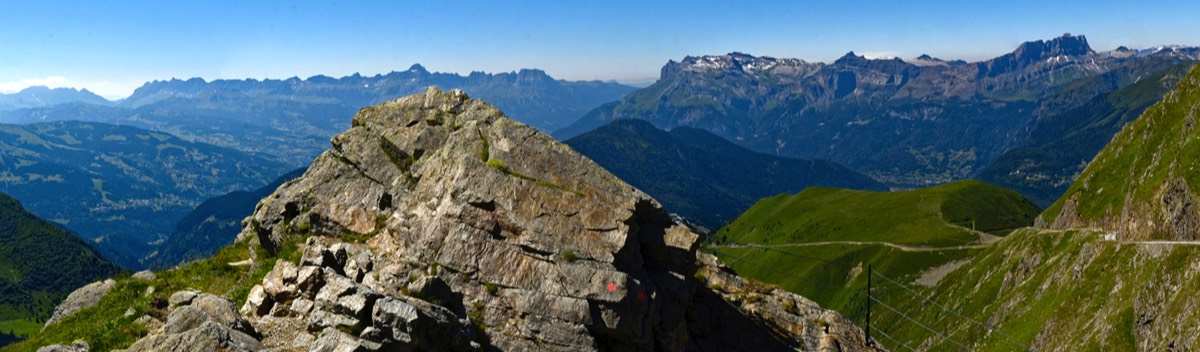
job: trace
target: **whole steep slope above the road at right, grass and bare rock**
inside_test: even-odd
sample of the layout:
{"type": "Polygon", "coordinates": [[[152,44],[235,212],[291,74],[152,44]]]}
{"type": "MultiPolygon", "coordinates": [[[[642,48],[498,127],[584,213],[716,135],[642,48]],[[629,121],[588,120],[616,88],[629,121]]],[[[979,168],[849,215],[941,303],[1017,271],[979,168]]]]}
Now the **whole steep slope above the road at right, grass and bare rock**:
{"type": "Polygon", "coordinates": [[[1200,71],[1129,123],[1043,213],[1052,228],[1103,228],[1122,239],[1200,239],[1200,71]]]}

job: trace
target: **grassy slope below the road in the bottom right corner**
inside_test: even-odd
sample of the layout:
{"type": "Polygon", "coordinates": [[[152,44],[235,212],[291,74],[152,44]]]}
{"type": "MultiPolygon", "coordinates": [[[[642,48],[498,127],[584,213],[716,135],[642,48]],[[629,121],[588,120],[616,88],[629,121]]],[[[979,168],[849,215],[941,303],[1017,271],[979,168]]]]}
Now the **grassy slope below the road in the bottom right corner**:
{"type": "MultiPolygon", "coordinates": [[[[1187,351],[1196,347],[1200,246],[1104,241],[1100,233],[1021,229],[976,255],[920,294],[978,322],[937,309],[892,284],[875,296],[976,351],[1187,351]]],[[[901,278],[905,282],[908,278],[901,278]]],[[[880,282],[880,281],[876,281],[880,282]]],[[[908,346],[956,345],[887,309],[877,328],[908,346]]],[[[895,346],[894,350],[904,350],[895,346]]]]}

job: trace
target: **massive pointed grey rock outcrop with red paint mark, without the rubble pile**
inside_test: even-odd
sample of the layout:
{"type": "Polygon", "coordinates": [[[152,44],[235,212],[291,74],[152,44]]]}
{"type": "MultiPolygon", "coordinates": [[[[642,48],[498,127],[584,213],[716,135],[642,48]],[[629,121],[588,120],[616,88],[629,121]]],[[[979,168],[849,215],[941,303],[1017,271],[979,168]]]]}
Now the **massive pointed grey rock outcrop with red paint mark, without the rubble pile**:
{"type": "Polygon", "coordinates": [[[353,125],[244,234],[272,247],[299,228],[374,233],[377,293],[437,278],[452,292],[439,305],[474,316],[502,350],[686,340],[697,237],[649,196],[462,91],[368,107],[353,125]]]}

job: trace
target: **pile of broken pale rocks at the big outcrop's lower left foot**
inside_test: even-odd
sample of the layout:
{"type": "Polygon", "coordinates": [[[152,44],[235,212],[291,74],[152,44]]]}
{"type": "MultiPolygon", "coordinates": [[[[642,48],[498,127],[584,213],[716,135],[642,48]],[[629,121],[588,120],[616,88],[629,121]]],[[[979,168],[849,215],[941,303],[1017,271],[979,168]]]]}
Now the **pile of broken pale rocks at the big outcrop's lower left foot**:
{"type": "MultiPolygon", "coordinates": [[[[473,342],[476,336],[470,322],[449,309],[380,293],[385,286],[374,280],[378,274],[371,270],[370,250],[328,241],[308,238],[299,266],[281,261],[263,285],[251,288],[241,312],[259,326],[274,328],[265,332],[269,345],[293,351],[481,350],[473,342]],[[314,339],[294,338],[298,329],[314,339]]],[[[436,297],[421,294],[420,288],[407,292],[426,299],[436,297]]]]}

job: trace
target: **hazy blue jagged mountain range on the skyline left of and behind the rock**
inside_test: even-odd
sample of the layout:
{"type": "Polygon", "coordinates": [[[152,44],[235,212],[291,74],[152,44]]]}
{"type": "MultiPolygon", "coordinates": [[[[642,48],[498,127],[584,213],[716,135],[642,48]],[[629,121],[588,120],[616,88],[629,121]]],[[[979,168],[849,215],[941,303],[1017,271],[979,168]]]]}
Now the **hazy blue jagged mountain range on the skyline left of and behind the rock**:
{"type": "Polygon", "coordinates": [[[359,108],[436,85],[485,97],[514,119],[545,131],[635,88],[612,82],[558,80],[541,70],[509,73],[437,73],[413,65],[388,74],[307,79],[170,79],[146,83],[116,106],[77,101],[0,113],[0,123],[88,120],[163,131],[188,141],[307,165],[349,126],[359,108]]]}

